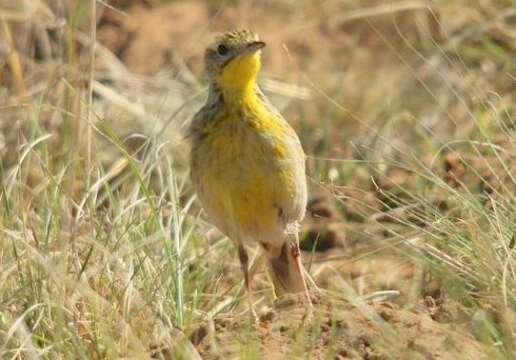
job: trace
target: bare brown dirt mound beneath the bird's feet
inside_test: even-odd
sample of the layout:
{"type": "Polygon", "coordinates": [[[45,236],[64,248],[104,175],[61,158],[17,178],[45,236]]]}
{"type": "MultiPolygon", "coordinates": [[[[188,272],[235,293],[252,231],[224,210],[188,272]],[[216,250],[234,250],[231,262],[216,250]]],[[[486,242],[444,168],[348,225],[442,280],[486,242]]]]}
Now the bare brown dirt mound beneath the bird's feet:
{"type": "Polygon", "coordinates": [[[294,305],[302,299],[295,300],[277,301],[258,325],[246,316],[216,319],[212,334],[203,326],[191,341],[206,359],[236,358],[243,347],[266,359],[481,359],[485,354],[468,324],[438,321],[444,310],[431,300],[402,309],[392,302],[352,306],[321,297],[313,318],[294,305]]]}

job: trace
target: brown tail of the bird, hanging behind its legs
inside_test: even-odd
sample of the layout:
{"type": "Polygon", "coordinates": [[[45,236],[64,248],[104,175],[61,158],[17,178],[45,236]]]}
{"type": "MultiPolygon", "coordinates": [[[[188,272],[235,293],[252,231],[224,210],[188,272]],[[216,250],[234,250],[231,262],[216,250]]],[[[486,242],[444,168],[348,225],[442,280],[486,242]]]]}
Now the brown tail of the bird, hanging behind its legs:
{"type": "Polygon", "coordinates": [[[276,296],[306,291],[297,241],[295,243],[286,241],[279,256],[268,259],[268,265],[276,296]]]}

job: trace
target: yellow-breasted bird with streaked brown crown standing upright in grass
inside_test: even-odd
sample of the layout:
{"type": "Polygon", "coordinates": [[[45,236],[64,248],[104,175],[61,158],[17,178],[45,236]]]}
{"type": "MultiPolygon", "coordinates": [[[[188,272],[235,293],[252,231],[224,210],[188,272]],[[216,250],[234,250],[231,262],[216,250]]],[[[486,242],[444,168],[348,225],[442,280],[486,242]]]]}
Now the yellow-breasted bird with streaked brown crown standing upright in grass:
{"type": "Polygon", "coordinates": [[[299,248],[305,216],[305,153],[257,84],[265,42],[250,30],[215,37],[204,53],[208,96],[188,137],[190,177],[207,220],[238,249],[249,312],[256,319],[246,244],[259,244],[276,296],[304,293],[299,248]]]}

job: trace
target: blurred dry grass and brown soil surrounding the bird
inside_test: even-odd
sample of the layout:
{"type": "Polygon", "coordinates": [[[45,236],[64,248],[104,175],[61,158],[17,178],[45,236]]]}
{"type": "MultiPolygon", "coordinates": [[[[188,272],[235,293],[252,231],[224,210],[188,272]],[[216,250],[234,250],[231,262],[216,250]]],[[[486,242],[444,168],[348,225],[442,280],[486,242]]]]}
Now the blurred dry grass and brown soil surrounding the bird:
{"type": "Polygon", "coordinates": [[[0,0],[0,22],[0,357],[514,356],[514,0],[0,0]],[[320,323],[297,337],[259,265],[248,328],[187,176],[204,48],[235,28],[307,154],[320,323]]]}

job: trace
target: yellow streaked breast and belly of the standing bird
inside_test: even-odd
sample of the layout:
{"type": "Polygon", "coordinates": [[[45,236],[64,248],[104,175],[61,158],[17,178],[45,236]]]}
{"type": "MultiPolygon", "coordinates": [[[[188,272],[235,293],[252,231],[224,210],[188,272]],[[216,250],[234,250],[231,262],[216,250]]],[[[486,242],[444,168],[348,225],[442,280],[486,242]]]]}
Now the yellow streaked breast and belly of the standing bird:
{"type": "Polygon", "coordinates": [[[289,146],[295,133],[257,99],[221,109],[206,126],[192,151],[192,176],[209,217],[251,237],[277,227],[305,181],[302,150],[289,146]]]}

